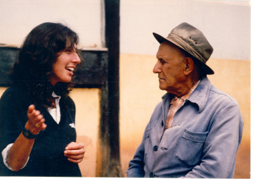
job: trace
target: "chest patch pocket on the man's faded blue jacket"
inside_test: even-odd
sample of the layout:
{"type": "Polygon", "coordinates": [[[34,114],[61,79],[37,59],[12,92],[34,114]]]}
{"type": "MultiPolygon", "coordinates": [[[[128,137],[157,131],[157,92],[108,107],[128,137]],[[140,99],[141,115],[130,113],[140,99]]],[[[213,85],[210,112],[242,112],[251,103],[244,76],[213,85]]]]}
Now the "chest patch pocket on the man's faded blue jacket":
{"type": "Polygon", "coordinates": [[[178,143],[175,157],[189,168],[198,165],[203,155],[203,145],[208,133],[193,132],[185,129],[178,143]]]}

